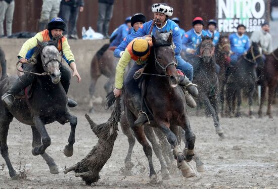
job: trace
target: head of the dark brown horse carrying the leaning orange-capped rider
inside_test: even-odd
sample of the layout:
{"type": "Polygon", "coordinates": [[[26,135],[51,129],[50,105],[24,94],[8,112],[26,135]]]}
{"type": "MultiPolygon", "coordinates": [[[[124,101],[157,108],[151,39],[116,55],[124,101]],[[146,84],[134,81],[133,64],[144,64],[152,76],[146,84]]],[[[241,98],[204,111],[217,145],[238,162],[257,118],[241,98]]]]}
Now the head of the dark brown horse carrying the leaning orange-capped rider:
{"type": "Polygon", "coordinates": [[[169,78],[170,86],[176,87],[179,83],[179,74],[176,70],[177,61],[175,58],[172,32],[157,32],[152,36],[152,42],[156,72],[161,75],[166,75],[169,78]]]}

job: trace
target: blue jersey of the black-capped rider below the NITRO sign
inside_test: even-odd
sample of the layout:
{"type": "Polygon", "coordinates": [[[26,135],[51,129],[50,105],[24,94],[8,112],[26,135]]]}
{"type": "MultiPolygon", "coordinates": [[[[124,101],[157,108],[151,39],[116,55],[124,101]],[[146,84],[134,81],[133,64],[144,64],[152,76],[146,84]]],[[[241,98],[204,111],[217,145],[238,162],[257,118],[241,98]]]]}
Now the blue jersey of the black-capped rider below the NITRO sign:
{"type": "Polygon", "coordinates": [[[242,54],[246,53],[250,47],[249,37],[245,34],[239,36],[237,33],[229,35],[230,50],[234,52],[230,56],[232,60],[237,60],[242,54]]]}

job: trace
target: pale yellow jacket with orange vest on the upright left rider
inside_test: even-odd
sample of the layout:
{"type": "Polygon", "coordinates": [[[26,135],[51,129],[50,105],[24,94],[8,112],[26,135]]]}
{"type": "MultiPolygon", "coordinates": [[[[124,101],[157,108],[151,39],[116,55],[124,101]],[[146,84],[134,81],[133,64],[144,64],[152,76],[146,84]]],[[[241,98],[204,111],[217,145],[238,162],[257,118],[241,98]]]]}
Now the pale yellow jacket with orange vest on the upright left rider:
{"type": "MultiPolygon", "coordinates": [[[[51,40],[49,35],[49,30],[45,29],[41,32],[38,32],[34,37],[28,39],[22,45],[22,48],[18,54],[18,58],[30,59],[34,56],[35,48],[37,46],[37,40],[39,41],[49,41],[51,40]]],[[[75,62],[74,56],[70,50],[70,45],[65,36],[62,37],[62,47],[63,47],[63,58],[70,65],[70,63],[75,62]]],[[[61,41],[58,43],[58,51],[61,52],[61,41]]]]}

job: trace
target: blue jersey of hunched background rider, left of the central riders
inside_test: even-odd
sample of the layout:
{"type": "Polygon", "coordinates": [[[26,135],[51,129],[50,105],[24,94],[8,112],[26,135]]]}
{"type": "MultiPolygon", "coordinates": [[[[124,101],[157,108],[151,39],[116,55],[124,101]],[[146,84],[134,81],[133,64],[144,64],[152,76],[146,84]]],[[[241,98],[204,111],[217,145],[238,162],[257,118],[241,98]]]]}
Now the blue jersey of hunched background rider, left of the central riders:
{"type": "Polygon", "coordinates": [[[118,46],[130,32],[131,29],[129,29],[126,24],[120,25],[110,36],[110,38],[112,38],[117,35],[116,38],[110,43],[110,46],[118,46]]]}

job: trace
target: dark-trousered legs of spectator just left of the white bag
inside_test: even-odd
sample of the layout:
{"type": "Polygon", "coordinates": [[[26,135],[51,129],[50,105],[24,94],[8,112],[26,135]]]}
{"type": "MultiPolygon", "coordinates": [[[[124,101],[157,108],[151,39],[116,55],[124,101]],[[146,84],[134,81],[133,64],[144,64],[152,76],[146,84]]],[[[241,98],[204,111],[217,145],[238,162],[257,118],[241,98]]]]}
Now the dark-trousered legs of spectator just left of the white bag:
{"type": "Polygon", "coordinates": [[[78,12],[84,9],[83,0],[62,0],[59,17],[67,24],[67,30],[64,31],[69,39],[78,39],[76,32],[76,23],[78,19],[78,12]]]}

